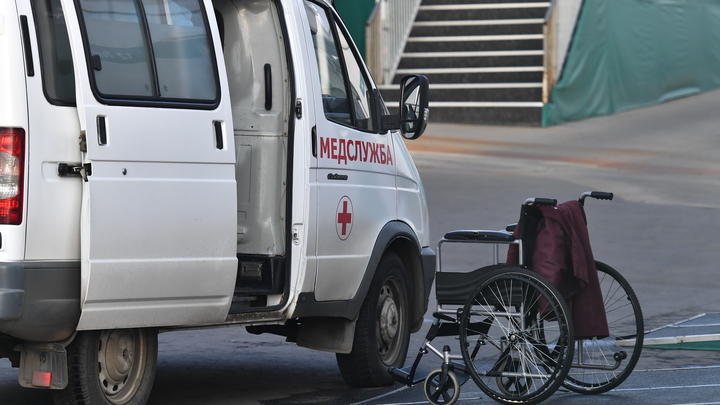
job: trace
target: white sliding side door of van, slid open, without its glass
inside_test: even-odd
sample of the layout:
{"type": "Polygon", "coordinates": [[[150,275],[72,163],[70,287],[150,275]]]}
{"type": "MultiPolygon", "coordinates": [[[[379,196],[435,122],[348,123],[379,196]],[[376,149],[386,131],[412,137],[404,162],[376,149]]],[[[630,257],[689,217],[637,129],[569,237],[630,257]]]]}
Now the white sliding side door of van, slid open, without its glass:
{"type": "MultiPolygon", "coordinates": [[[[75,4],[62,4],[87,139],[83,163],[92,165],[83,182],[78,330],[222,322],[237,272],[235,148],[227,136],[224,66],[217,66],[221,94],[214,110],[101,104],[91,88],[75,4]]],[[[216,29],[212,8],[205,12],[216,29]]],[[[97,24],[86,20],[91,23],[97,24]]]]}

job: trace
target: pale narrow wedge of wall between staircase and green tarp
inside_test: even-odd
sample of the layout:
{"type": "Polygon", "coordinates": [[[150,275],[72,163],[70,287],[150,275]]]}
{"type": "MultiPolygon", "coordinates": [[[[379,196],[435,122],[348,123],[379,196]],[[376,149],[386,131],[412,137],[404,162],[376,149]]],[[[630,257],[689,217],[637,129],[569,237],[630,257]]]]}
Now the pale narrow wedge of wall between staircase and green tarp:
{"type": "Polygon", "coordinates": [[[543,103],[562,76],[584,0],[551,0],[543,23],[543,103]]]}

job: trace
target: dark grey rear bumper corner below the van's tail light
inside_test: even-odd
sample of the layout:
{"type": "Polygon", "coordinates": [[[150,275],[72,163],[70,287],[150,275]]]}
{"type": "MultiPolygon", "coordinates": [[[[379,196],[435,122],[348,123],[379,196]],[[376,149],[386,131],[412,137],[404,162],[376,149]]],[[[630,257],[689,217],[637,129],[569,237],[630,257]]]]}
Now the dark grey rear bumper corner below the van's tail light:
{"type": "Polygon", "coordinates": [[[67,339],[80,319],[80,262],[0,262],[0,332],[67,339]]]}

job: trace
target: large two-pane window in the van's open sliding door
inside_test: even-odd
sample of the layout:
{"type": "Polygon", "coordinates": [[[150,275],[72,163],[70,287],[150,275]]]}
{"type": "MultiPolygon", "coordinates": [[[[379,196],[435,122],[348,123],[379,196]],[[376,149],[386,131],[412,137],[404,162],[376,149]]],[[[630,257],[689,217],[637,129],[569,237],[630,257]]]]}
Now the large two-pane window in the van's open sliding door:
{"type": "Polygon", "coordinates": [[[217,74],[200,0],[80,0],[104,98],[214,102],[217,74]]]}

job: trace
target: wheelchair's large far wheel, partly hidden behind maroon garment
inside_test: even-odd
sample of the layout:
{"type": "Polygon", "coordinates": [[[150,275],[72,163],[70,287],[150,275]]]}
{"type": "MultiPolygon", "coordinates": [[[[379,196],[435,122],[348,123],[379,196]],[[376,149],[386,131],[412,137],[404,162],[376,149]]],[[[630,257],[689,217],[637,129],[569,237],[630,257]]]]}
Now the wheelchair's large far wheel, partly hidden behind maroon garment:
{"type": "Polygon", "coordinates": [[[572,368],[563,385],[582,394],[606,392],[625,381],[640,358],[644,337],[642,310],[630,284],[605,263],[596,261],[595,267],[610,336],[575,342],[572,368]]]}

